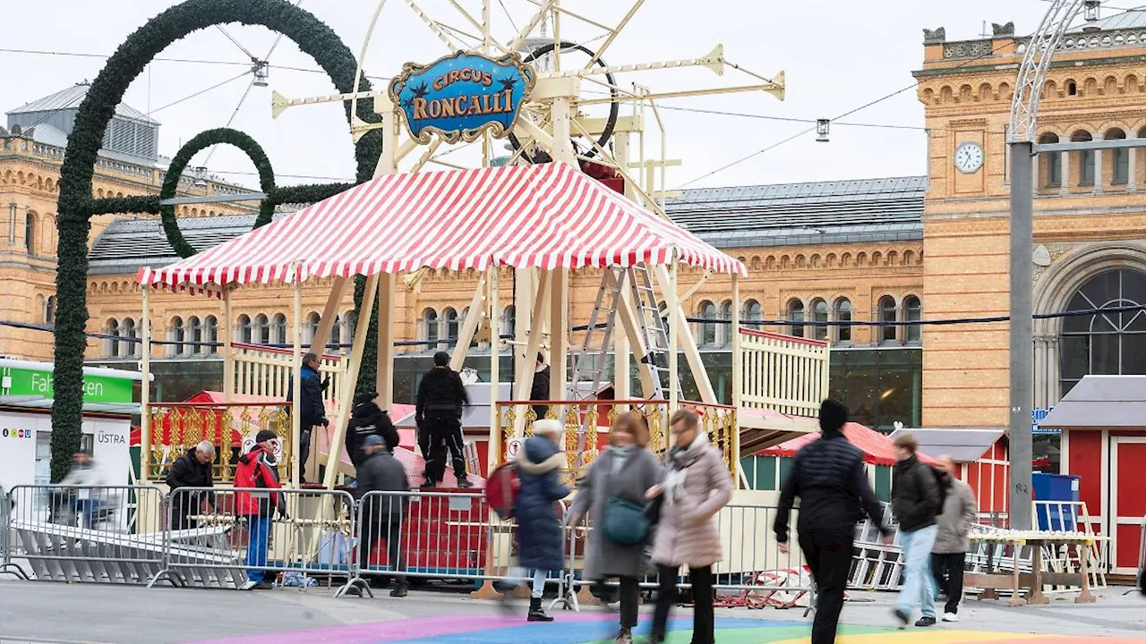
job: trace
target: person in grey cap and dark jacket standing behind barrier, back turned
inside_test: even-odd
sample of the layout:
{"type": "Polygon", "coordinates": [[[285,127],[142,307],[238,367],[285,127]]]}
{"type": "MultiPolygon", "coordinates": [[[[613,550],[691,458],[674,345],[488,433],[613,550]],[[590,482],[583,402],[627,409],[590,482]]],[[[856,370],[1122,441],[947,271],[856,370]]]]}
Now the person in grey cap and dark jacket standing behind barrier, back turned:
{"type": "Polygon", "coordinates": [[[386,442],[377,434],[370,434],[362,441],[366,460],[358,469],[358,494],[362,505],[362,542],[359,543],[359,566],[370,568],[370,555],[379,540],[386,541],[386,557],[390,568],[394,571],[394,588],[391,597],[406,597],[409,580],[400,573],[402,518],[406,516],[407,496],[410,481],[406,477],[406,468],[394,458],[386,442]],[[371,492],[400,493],[376,494],[371,492]]]}

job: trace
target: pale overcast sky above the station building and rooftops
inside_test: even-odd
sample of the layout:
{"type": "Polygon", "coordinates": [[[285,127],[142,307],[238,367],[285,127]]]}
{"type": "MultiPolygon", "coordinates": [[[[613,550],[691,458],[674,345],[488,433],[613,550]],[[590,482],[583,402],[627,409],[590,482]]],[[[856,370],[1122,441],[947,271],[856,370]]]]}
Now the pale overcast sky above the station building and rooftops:
{"type": "MultiPolygon", "coordinates": [[[[478,14],[478,0],[457,2],[478,14]]],[[[94,79],[105,62],[103,56],[115,52],[148,18],[175,3],[44,0],[36,11],[40,18],[28,15],[29,23],[9,25],[0,33],[0,69],[5,70],[0,111],[94,79]]],[[[449,0],[417,3],[435,19],[473,31],[449,0]]],[[[604,24],[618,23],[630,3],[562,2],[604,24]]],[[[521,26],[535,11],[529,0],[495,0],[492,7],[493,33],[502,42],[517,33],[511,18],[521,26]]],[[[771,77],[785,71],[787,96],[783,102],[754,92],[660,103],[666,108],[661,116],[667,155],[683,162],[668,171],[669,189],[904,176],[926,172],[921,129],[837,125],[831,141],[821,143],[814,133],[796,136],[810,124],[771,117],[834,118],[874,102],[841,123],[921,127],[923,105],[911,72],[923,64],[924,28],[944,26],[948,40],[965,40],[978,38],[984,23],[990,32],[990,23],[1014,21],[1017,32],[1026,34],[1037,26],[1047,7],[1045,0],[645,0],[603,58],[612,65],[693,58],[722,44],[728,61],[755,73],[771,77]]],[[[301,8],[330,25],[358,53],[377,0],[301,0],[301,8]]],[[[1116,8],[1121,7],[1105,9],[1104,16],[1116,13],[1116,8]]],[[[280,186],[351,180],[352,142],[339,103],[295,107],[278,119],[270,118],[272,91],[288,97],[335,91],[324,73],[314,71],[314,61],[284,38],[269,56],[269,87],[250,87],[250,74],[225,83],[246,70],[242,63],[250,58],[243,49],[266,57],[276,41],[276,34],[264,28],[233,24],[225,29],[226,33],[213,28],[193,33],[162,54],[166,58],[214,63],[156,61],[128,89],[125,102],[163,124],[160,154],[174,156],[182,142],[198,132],[230,123],[267,150],[280,186]]],[[[562,31],[563,38],[575,41],[590,41],[602,34],[568,17],[563,18],[562,31]]],[[[589,46],[601,44],[597,39],[589,46]]],[[[445,45],[407,1],[388,0],[369,40],[364,69],[369,76],[390,78],[403,62],[429,63],[446,53],[445,45]]],[[[638,83],[654,92],[754,81],[732,69],[717,77],[699,68],[630,72],[618,74],[617,80],[622,86],[638,83]]],[[[591,85],[583,89],[594,92],[591,85]]],[[[646,146],[650,155],[659,154],[658,136],[650,135],[646,146]]],[[[470,154],[463,150],[445,160],[464,162],[470,154]]],[[[191,165],[207,165],[212,173],[229,181],[258,183],[245,155],[226,146],[201,152],[191,165]]]]}

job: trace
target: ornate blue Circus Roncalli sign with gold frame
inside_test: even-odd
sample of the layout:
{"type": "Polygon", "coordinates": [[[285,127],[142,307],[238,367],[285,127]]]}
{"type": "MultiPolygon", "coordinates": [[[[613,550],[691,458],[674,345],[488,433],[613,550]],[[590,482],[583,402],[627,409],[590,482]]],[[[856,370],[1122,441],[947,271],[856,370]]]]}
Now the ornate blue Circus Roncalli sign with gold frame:
{"type": "Polygon", "coordinates": [[[390,84],[390,99],[406,115],[410,136],[429,143],[473,141],[485,131],[504,136],[536,81],[513,55],[490,58],[458,52],[429,65],[406,63],[390,84]]]}

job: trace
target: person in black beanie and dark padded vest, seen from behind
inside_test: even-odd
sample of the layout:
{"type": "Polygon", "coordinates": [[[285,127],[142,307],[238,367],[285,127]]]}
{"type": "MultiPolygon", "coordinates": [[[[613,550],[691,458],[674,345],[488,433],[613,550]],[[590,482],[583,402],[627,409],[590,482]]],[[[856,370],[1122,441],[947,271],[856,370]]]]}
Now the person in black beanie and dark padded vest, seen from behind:
{"type": "Polygon", "coordinates": [[[811,644],[835,642],[835,627],[843,608],[843,591],[851,568],[851,542],[856,523],[866,511],[890,541],[884,508],[876,500],[864,473],[863,453],[848,442],[843,425],[848,408],[827,399],[819,406],[819,440],[796,453],[792,471],[780,488],[780,503],[772,529],[780,552],[788,551],[788,515],[800,497],[800,549],[811,568],[818,592],[811,644]]]}

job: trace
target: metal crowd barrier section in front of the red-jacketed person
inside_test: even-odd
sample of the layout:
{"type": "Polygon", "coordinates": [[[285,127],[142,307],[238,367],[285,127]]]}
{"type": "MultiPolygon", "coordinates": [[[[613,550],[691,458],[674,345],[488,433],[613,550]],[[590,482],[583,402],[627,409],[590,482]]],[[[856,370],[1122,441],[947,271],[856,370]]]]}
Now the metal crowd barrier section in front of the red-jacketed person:
{"type": "Polygon", "coordinates": [[[315,576],[353,579],[355,519],[353,497],[340,490],[179,488],[168,496],[160,576],[235,589],[272,573],[298,586],[316,584],[304,581],[315,576]]]}

